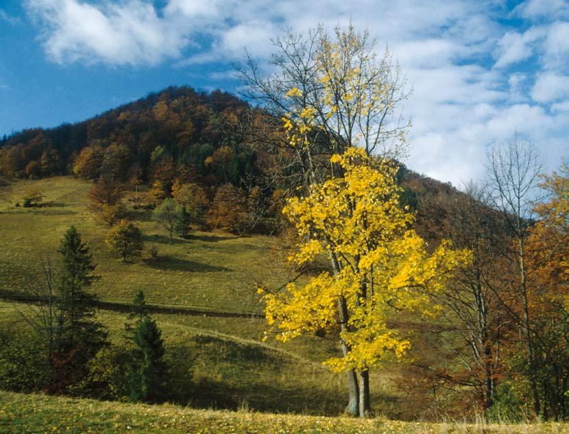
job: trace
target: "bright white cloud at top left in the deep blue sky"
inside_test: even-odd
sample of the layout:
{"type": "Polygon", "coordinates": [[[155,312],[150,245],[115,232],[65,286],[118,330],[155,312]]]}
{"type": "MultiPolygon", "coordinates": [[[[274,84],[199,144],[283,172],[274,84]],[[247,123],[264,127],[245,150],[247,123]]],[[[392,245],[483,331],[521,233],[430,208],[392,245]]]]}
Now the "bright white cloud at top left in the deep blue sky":
{"type": "Polygon", "coordinates": [[[177,57],[184,34],[171,29],[154,7],[139,0],[91,5],[77,0],[28,0],[27,8],[45,23],[42,35],[54,62],[156,64],[177,57]]]}

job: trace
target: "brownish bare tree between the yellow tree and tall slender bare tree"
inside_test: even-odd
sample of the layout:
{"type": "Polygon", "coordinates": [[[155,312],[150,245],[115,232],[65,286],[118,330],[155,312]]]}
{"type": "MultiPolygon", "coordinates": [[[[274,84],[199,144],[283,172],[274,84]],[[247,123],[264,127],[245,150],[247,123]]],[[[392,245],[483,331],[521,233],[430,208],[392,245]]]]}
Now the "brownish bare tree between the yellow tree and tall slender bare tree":
{"type": "Polygon", "coordinates": [[[472,262],[437,297],[450,330],[466,343],[468,352],[456,349],[455,355],[471,373],[485,409],[492,405],[501,365],[500,344],[509,322],[497,296],[503,263],[497,244],[503,242],[504,225],[487,206],[488,197],[486,189],[470,182],[465,195],[447,204],[452,243],[470,250],[472,262]]]}

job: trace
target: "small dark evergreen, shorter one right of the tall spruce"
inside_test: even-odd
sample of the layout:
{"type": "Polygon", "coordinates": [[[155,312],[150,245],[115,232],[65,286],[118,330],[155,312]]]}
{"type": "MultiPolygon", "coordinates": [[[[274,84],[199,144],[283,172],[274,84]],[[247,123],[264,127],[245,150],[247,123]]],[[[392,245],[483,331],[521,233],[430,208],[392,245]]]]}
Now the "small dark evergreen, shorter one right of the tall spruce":
{"type": "Polygon", "coordinates": [[[128,366],[129,396],[133,402],[152,402],[160,399],[165,383],[164,340],[156,322],[145,309],[142,291],[134,298],[129,318],[133,317],[138,319],[132,330],[134,348],[128,366]]]}

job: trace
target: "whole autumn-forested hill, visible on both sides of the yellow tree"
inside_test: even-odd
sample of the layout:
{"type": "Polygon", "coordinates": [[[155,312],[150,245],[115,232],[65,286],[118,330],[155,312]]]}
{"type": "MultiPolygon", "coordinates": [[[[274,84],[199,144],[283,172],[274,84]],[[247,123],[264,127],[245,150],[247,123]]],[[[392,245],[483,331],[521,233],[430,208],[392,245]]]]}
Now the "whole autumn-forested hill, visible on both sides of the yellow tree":
{"type": "MultiPolygon", "coordinates": [[[[262,147],[250,143],[250,119],[250,106],[230,93],[169,87],[86,121],[4,137],[0,175],[34,179],[74,174],[94,180],[109,176],[148,184],[158,199],[171,195],[176,180],[179,185],[201,186],[210,201],[219,186],[229,184],[236,189],[224,191],[226,196],[242,203],[250,199],[259,175],[274,164],[262,147]]],[[[406,187],[405,202],[411,208],[424,204],[419,217],[428,221],[422,232],[439,238],[441,204],[457,191],[404,167],[400,178],[406,187]]],[[[269,208],[276,215],[278,204],[267,205],[280,197],[276,188],[253,192],[254,200],[265,201],[265,217],[269,208]]]]}

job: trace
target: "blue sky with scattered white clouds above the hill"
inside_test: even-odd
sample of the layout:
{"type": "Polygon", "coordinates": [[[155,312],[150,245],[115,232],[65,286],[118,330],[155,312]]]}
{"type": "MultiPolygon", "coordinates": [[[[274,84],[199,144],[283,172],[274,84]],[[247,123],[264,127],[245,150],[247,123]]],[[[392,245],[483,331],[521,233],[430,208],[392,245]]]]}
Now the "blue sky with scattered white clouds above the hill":
{"type": "Polygon", "coordinates": [[[514,134],[569,155],[569,0],[0,0],[0,135],[88,119],[171,85],[236,92],[287,29],[369,29],[411,95],[419,173],[460,187],[514,134]]]}

